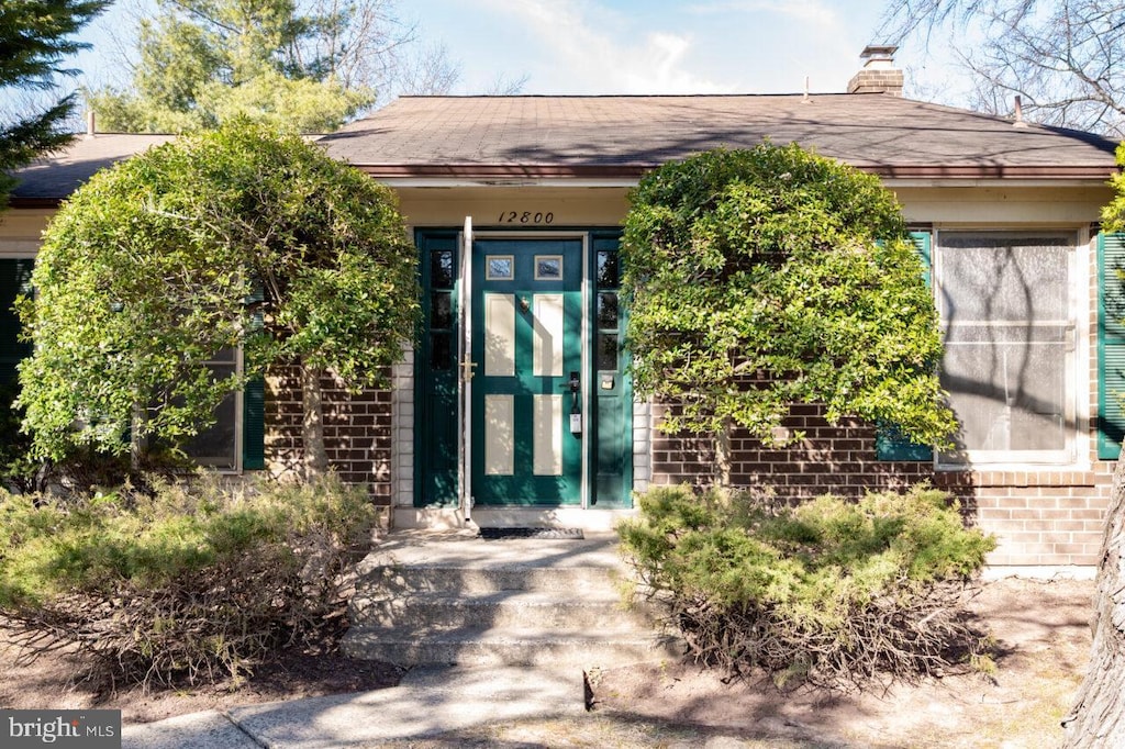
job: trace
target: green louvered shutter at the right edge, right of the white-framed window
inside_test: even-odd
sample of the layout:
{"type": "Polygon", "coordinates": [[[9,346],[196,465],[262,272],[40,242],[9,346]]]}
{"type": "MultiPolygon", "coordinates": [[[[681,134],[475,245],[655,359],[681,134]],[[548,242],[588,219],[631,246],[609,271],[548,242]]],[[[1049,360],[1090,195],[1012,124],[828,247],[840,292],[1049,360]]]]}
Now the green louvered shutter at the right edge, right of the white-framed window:
{"type": "Polygon", "coordinates": [[[1125,436],[1125,234],[1098,234],[1098,459],[1125,436]]]}

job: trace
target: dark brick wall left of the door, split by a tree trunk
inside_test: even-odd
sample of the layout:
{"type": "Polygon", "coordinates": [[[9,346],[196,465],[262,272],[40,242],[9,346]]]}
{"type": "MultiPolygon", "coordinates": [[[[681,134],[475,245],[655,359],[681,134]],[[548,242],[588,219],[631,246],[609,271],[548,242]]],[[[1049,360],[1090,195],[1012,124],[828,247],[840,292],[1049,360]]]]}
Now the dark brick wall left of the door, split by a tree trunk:
{"type": "MultiPolygon", "coordinates": [[[[332,377],[321,380],[324,442],[328,461],[348,484],[369,487],[379,505],[392,496],[392,394],[363,390],[351,395],[332,377]]],[[[292,369],[267,378],[266,463],[279,478],[292,476],[302,461],[300,380],[292,369]]]]}

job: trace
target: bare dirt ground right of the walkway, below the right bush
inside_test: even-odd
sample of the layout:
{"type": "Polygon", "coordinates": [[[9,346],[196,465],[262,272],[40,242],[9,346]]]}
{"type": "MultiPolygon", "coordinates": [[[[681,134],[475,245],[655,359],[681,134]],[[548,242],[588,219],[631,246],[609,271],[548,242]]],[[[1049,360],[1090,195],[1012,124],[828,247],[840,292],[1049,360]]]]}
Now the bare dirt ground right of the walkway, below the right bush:
{"type": "Polygon", "coordinates": [[[984,586],[970,610],[997,641],[991,677],[948,675],[885,694],[838,696],[724,684],[693,666],[648,667],[601,675],[595,707],[800,747],[1053,748],[1089,662],[1094,592],[1092,581],[1074,580],[984,586]]]}

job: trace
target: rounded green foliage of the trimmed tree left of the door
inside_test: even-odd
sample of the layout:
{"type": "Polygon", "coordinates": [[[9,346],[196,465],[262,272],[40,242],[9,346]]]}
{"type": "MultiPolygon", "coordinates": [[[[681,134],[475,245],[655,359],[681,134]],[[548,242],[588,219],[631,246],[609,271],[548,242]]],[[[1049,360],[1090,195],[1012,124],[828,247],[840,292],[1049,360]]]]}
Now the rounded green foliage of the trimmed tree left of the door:
{"type": "Polygon", "coordinates": [[[174,444],[276,362],[380,383],[415,278],[389,189],[299,136],[242,121],[123,162],[52,220],[19,304],[36,454],[174,444]],[[244,373],[215,379],[205,362],[240,346],[244,373]]]}

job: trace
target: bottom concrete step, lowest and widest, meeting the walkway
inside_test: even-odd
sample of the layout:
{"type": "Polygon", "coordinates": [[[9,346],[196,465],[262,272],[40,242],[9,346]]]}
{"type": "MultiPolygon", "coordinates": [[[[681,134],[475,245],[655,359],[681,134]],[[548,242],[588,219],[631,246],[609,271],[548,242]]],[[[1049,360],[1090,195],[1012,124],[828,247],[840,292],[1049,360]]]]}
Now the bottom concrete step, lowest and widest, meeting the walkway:
{"type": "Polygon", "coordinates": [[[675,642],[652,633],[559,632],[548,629],[458,629],[448,632],[389,633],[353,629],[342,643],[351,658],[399,666],[465,667],[560,666],[612,668],[639,661],[682,657],[675,642]]]}

